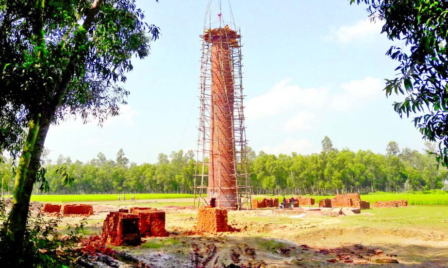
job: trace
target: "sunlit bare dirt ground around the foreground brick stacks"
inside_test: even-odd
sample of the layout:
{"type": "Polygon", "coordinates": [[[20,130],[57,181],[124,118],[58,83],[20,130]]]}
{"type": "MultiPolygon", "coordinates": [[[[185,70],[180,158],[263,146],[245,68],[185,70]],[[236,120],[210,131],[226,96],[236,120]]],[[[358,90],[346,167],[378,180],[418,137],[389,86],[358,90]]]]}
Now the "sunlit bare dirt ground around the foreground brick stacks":
{"type": "MultiPolygon", "coordinates": [[[[371,209],[349,216],[282,214],[275,209],[229,211],[229,224],[239,231],[198,233],[197,212],[172,205],[191,202],[184,199],[90,202],[94,214],[86,218],[87,236],[101,234],[110,211],[151,205],[166,211],[170,233],[168,237],[143,238],[138,247],[113,247],[128,257],[117,258],[115,265],[98,262],[96,266],[133,267],[138,260],[140,267],[151,268],[349,267],[354,264],[330,263],[333,255],[318,251],[362,244],[393,254],[399,262],[382,264],[385,267],[448,267],[448,207],[371,209]]],[[[81,219],[64,218],[61,231],[81,219]]],[[[378,264],[370,262],[363,267],[378,264]]]]}

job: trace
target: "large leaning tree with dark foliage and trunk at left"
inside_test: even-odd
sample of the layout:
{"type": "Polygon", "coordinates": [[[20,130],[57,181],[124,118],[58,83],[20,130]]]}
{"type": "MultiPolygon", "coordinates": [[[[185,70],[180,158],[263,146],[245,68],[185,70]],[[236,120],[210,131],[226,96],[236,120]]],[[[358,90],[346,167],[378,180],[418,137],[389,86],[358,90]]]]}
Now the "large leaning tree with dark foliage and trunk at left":
{"type": "Polygon", "coordinates": [[[0,135],[17,134],[0,149],[23,144],[7,224],[20,254],[33,185],[45,179],[40,157],[50,125],[70,114],[100,123],[116,115],[131,58],[148,55],[148,29],[153,38],[158,30],[134,0],[1,0],[0,19],[0,135]]]}

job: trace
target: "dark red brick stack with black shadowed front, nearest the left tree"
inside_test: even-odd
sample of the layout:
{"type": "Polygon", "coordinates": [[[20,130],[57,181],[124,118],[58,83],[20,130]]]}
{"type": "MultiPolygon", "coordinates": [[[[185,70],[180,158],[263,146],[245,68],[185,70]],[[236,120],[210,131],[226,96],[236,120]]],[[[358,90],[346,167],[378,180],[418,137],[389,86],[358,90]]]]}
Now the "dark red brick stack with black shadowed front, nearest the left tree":
{"type": "Polygon", "coordinates": [[[115,246],[140,245],[139,219],[136,214],[111,212],[104,220],[101,242],[115,246]]]}

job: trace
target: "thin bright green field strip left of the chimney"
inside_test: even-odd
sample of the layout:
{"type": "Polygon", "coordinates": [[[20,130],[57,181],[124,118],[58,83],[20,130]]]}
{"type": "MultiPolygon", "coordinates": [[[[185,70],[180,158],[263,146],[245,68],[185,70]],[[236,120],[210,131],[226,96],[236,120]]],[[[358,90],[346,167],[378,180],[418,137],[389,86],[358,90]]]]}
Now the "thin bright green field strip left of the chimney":
{"type": "MultiPolygon", "coordinates": [[[[123,195],[121,200],[123,200],[123,195]]],[[[190,194],[126,194],[126,200],[131,200],[135,196],[135,200],[143,199],[165,199],[165,198],[193,198],[190,194]]],[[[33,195],[31,201],[39,202],[89,202],[89,201],[116,201],[118,195],[33,195]]]]}

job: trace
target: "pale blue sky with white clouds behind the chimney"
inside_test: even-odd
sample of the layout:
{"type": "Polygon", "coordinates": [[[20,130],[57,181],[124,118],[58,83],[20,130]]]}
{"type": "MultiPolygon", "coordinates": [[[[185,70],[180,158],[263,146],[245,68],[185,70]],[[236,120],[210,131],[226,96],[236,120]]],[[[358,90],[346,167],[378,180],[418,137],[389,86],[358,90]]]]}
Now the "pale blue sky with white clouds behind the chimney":
{"type": "MultiPolygon", "coordinates": [[[[99,152],[115,159],[156,162],[161,152],[194,149],[199,123],[199,59],[207,0],[140,0],[146,21],[161,29],[151,54],[135,59],[122,114],[100,128],[67,121],[51,126],[49,157],[87,161],[99,152]]],[[[400,119],[386,98],[384,78],[397,66],[392,44],[365,6],[348,0],[231,0],[241,28],[243,86],[249,145],[266,153],[319,152],[324,136],[339,149],[384,153],[389,141],[421,150],[412,119],[400,119]]],[[[212,21],[217,19],[212,2],[212,21]]],[[[228,1],[222,16],[229,18],[228,1]]]]}

